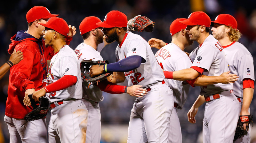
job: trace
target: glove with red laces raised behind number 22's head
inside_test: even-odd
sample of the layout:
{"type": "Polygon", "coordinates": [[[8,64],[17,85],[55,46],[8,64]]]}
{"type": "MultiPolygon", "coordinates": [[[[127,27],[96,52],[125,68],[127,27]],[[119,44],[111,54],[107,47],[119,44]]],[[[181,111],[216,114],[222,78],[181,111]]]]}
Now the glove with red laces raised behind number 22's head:
{"type": "Polygon", "coordinates": [[[154,28],[154,23],[155,22],[148,19],[146,16],[138,15],[130,19],[127,23],[127,26],[128,26],[128,30],[132,30],[132,31],[152,32],[154,28]]]}

